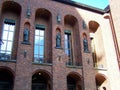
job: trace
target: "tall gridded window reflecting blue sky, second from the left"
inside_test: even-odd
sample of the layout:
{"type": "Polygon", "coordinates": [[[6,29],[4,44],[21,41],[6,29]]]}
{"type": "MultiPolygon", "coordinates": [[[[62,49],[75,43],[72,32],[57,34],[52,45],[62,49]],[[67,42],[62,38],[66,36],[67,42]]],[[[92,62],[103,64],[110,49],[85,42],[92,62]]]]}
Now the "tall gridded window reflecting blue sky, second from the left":
{"type": "Polygon", "coordinates": [[[44,50],[45,50],[45,27],[37,25],[35,29],[34,40],[34,60],[37,63],[44,62],[44,50]]]}

